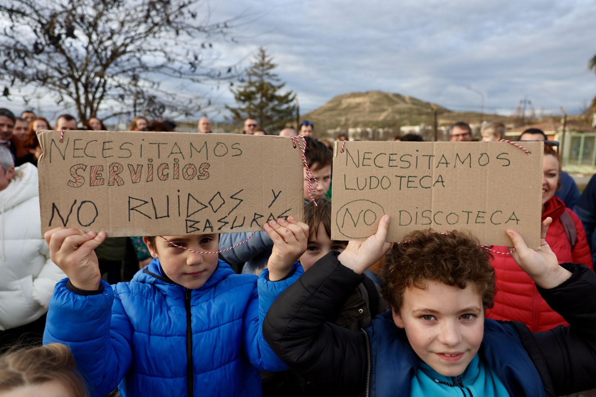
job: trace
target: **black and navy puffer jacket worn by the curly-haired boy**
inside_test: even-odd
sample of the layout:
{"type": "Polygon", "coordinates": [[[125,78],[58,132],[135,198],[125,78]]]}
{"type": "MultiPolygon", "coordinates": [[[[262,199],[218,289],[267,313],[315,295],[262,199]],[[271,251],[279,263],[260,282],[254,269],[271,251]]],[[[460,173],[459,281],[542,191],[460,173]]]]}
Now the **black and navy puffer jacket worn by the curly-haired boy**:
{"type": "MultiPolygon", "coordinates": [[[[495,363],[491,368],[511,396],[527,395],[527,390],[540,391],[533,395],[558,396],[596,387],[596,274],[583,265],[562,266],[572,272],[572,277],[555,288],[539,291],[571,324],[569,327],[532,333],[522,323],[485,320],[485,329],[489,326],[502,335],[485,332],[483,346],[489,346],[489,339],[501,345],[506,337],[515,341],[511,346],[491,349],[493,357],[486,357],[495,363]],[[517,370],[510,365],[514,361],[517,370]]],[[[371,327],[358,333],[325,322],[362,277],[340,264],[337,253],[325,255],[277,298],[263,323],[263,335],[286,364],[311,382],[327,385],[334,390],[333,395],[386,396],[399,390],[400,395],[408,396],[411,374],[418,365],[413,351],[411,355],[392,356],[383,349],[375,350],[375,343],[382,345],[378,340],[393,337],[405,346],[404,351],[411,351],[403,332],[393,327],[395,330],[389,330],[392,335],[369,339],[375,329],[387,329],[386,316],[378,316],[371,327]],[[408,357],[413,357],[412,362],[405,362],[408,357]],[[375,367],[381,358],[384,367],[375,367]]]]}

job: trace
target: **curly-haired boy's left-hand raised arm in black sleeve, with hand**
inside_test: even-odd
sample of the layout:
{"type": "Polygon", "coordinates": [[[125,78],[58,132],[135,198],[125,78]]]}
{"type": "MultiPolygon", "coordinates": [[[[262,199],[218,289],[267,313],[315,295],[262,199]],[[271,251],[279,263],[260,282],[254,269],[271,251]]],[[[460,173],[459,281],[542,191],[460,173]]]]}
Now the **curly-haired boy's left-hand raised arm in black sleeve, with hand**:
{"type": "Polygon", "coordinates": [[[321,258],[275,300],[263,322],[265,339],[286,364],[317,385],[333,386],[337,395],[364,391],[367,342],[364,333],[325,321],[362,282],[364,270],[389,248],[384,243],[388,223],[383,218],[377,235],[364,243],[350,242],[342,254],[321,258]]]}

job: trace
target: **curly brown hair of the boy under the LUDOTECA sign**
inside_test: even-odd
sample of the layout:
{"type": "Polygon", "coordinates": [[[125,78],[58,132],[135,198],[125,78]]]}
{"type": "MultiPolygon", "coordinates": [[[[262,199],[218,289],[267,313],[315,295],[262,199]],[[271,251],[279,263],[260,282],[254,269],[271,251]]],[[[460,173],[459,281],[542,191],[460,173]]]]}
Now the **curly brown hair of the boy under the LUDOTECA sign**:
{"type": "Polygon", "coordinates": [[[379,271],[381,293],[395,312],[403,304],[408,287],[426,288],[436,281],[464,289],[476,284],[482,305],[492,308],[495,298],[495,270],[489,254],[469,232],[453,230],[441,235],[435,230],[416,230],[387,252],[385,268],[379,271]]]}

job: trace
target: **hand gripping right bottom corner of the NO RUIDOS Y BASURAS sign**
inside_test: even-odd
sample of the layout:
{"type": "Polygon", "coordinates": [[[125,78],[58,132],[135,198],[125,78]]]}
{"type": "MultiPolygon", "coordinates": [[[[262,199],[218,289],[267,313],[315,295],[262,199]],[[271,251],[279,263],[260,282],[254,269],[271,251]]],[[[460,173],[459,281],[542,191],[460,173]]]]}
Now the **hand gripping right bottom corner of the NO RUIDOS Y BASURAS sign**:
{"type": "Polygon", "coordinates": [[[263,229],[274,242],[271,257],[267,262],[269,280],[281,280],[306,251],[308,225],[288,217],[287,220],[279,218],[277,221],[269,221],[263,225],[263,229]]]}

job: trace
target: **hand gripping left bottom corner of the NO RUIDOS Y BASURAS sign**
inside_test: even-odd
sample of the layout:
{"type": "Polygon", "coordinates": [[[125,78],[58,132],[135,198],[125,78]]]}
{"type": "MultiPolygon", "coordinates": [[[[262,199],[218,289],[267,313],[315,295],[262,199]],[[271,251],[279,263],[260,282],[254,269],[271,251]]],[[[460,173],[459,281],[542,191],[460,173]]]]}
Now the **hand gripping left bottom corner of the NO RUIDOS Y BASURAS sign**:
{"type": "Polygon", "coordinates": [[[70,283],[83,290],[96,290],[100,286],[100,267],[94,249],[105,240],[105,233],[83,232],[57,227],[45,232],[49,254],[69,277],[70,283]]]}

